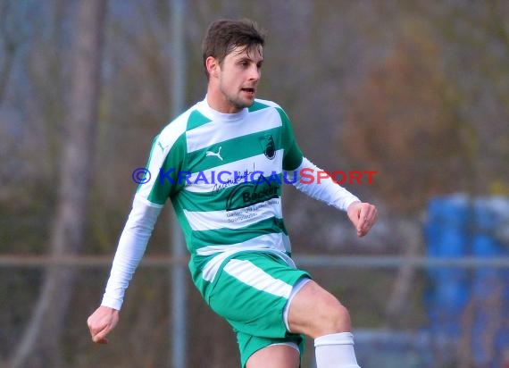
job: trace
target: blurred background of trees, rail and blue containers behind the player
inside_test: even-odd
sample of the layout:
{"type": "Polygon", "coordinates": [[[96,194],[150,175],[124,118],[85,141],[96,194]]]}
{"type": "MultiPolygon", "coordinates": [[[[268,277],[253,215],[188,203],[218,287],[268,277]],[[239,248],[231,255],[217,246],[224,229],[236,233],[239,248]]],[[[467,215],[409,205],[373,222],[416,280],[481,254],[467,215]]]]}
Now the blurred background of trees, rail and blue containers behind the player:
{"type": "Polygon", "coordinates": [[[0,0],[0,367],[238,366],[172,255],[170,205],[107,346],[86,321],[132,171],[204,97],[206,27],[243,17],[268,30],[258,96],[285,108],[305,155],[377,171],[344,184],[379,207],[362,239],[345,213],[284,194],[296,262],[350,310],[359,363],[509,367],[502,0],[0,0]]]}

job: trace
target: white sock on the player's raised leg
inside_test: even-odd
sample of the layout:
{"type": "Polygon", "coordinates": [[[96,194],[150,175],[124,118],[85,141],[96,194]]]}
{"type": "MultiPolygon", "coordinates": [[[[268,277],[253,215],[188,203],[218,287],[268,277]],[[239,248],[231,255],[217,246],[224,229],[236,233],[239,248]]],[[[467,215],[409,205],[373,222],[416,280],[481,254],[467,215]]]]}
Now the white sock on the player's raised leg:
{"type": "Polygon", "coordinates": [[[360,368],[354,351],[354,335],[331,333],[314,339],[317,368],[360,368]]]}

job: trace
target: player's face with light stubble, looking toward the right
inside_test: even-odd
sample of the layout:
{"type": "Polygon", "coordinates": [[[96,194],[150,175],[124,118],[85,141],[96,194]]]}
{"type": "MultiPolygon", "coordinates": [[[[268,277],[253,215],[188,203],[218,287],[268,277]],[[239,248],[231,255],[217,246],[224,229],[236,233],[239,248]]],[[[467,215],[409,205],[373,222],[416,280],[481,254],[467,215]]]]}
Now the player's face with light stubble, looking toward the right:
{"type": "Polygon", "coordinates": [[[238,113],[255,102],[262,76],[263,48],[237,47],[224,58],[219,71],[219,95],[223,113],[238,113]]]}

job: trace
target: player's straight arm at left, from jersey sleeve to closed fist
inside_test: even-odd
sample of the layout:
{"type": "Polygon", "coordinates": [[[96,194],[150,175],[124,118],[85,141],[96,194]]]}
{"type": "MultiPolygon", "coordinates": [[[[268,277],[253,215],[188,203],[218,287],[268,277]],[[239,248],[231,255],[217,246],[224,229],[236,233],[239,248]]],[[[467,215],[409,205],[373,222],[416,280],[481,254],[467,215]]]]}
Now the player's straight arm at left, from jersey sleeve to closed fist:
{"type": "Polygon", "coordinates": [[[181,151],[185,145],[182,139],[179,139],[179,130],[176,131],[177,134],[173,136],[160,135],[154,139],[146,164],[147,170],[152,173],[152,180],[138,187],[129,218],[121,232],[103,300],[88,318],[88,329],[96,343],[106,343],[106,336],[119,321],[125,291],[145,254],[157,217],[166,199],[178,189],[178,186],[173,184],[176,182],[174,176],[165,177],[165,180],[158,176],[158,173],[161,175],[162,172],[169,171],[172,175],[177,175],[176,169],[179,168],[181,151]]]}

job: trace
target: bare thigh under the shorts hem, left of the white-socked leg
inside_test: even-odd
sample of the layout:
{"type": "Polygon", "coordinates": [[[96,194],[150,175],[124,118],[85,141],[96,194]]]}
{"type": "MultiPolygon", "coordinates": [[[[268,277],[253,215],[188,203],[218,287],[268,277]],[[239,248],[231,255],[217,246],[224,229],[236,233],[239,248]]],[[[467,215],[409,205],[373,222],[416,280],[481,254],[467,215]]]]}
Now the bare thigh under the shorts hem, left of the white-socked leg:
{"type": "MultiPolygon", "coordinates": [[[[295,344],[294,344],[295,345],[295,344]]],[[[298,368],[300,353],[298,347],[276,344],[258,350],[251,355],[246,368],[298,368]]]]}

